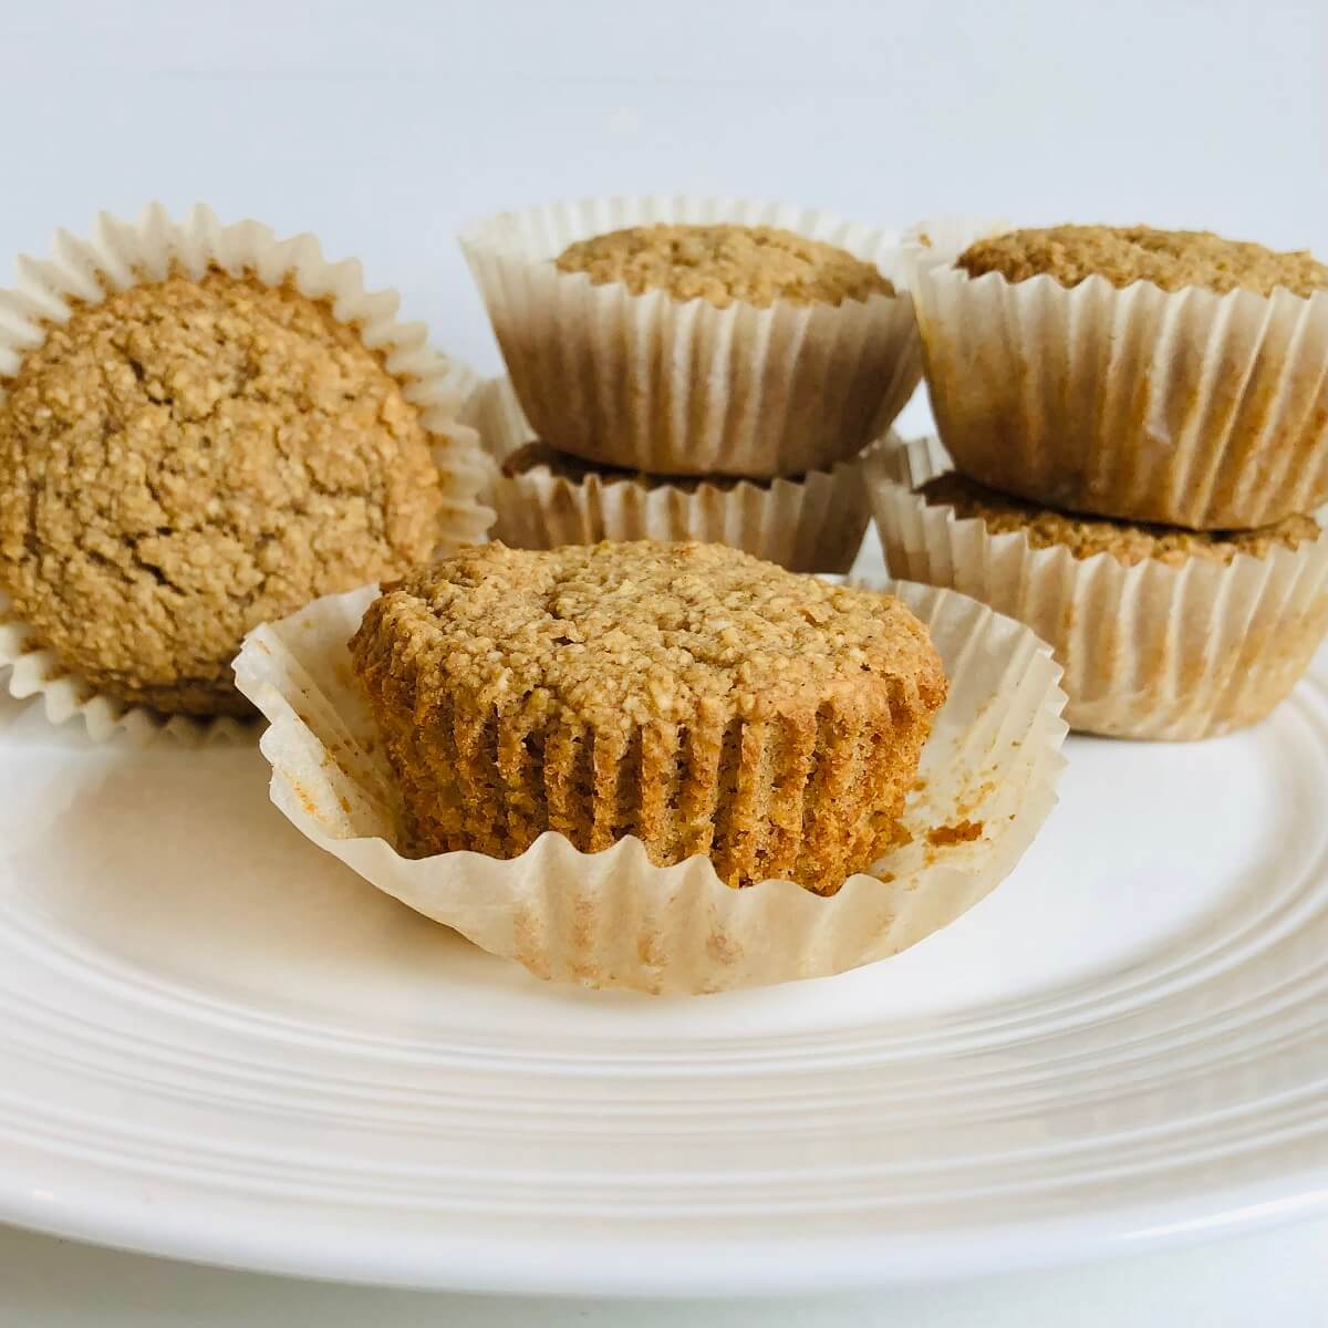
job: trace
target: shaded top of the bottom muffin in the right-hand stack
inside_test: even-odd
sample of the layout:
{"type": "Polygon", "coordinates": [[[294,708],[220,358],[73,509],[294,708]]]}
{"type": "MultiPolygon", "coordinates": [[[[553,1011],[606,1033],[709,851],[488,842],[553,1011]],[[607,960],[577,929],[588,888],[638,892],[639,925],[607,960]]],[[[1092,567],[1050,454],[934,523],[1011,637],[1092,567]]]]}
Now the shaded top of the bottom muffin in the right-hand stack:
{"type": "Polygon", "coordinates": [[[951,473],[923,485],[919,493],[932,505],[955,509],[960,518],[976,517],[992,534],[1020,531],[1035,548],[1060,544],[1074,558],[1110,554],[1126,566],[1150,558],[1179,567],[1191,558],[1230,563],[1236,554],[1267,558],[1274,548],[1296,548],[1321,534],[1312,517],[1287,517],[1258,530],[1178,530],[1105,518],[1076,517],[1021,502],[951,473]]]}

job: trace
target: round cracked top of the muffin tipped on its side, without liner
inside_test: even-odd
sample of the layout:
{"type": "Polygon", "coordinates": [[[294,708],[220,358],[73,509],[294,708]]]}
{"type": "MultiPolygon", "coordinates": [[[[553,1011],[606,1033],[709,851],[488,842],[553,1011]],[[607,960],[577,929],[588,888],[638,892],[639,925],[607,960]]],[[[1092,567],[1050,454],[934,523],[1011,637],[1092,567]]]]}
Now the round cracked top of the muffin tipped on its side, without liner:
{"type": "Polygon", "coordinates": [[[0,587],[69,668],[246,713],[244,633],[429,556],[420,412],[321,303],[214,271],[78,305],[0,400],[0,587]]]}

